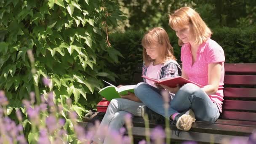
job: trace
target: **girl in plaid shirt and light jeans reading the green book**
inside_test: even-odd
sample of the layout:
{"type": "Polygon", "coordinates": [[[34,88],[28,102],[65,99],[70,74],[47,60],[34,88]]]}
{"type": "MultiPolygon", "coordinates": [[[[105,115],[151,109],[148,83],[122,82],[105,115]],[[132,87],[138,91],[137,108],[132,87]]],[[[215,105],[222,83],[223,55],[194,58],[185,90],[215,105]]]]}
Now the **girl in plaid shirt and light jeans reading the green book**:
{"type": "MultiPolygon", "coordinates": [[[[142,39],[142,46],[144,60],[142,75],[157,79],[181,75],[181,68],[176,62],[175,56],[173,56],[173,47],[170,44],[167,32],[163,28],[155,27],[149,30],[142,39]]],[[[144,82],[145,85],[154,87],[154,91],[160,93],[160,90],[155,88],[154,83],[145,79],[144,82]]],[[[135,116],[141,116],[139,106],[144,104],[134,93],[121,97],[122,99],[112,99],[96,134],[100,135],[99,133],[104,126],[108,126],[108,131],[118,131],[124,125],[124,116],[129,112],[135,116]]],[[[103,136],[94,139],[94,141],[111,143],[111,138],[109,136],[104,138],[103,136]]]]}

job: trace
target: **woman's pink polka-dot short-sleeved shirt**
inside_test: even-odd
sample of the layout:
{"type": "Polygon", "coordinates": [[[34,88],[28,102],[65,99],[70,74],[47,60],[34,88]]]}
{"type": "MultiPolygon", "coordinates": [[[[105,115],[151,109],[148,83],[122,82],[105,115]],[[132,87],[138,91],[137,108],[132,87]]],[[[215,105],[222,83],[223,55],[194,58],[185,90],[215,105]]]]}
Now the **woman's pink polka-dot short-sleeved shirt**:
{"type": "Polygon", "coordinates": [[[208,64],[221,63],[221,79],[219,89],[214,95],[210,95],[211,101],[217,104],[219,111],[222,112],[223,104],[223,85],[224,85],[224,51],[214,40],[208,39],[202,43],[197,50],[197,59],[192,65],[192,53],[190,44],[181,47],[182,70],[187,74],[189,80],[200,85],[208,85],[208,64]]]}

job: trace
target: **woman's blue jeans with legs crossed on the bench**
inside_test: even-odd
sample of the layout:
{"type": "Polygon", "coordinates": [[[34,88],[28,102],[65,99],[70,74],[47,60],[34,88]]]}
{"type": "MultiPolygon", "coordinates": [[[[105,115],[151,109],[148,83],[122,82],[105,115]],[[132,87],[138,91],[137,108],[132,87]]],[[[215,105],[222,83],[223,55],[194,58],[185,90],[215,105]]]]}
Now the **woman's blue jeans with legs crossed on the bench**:
{"type": "MultiPolygon", "coordinates": [[[[149,109],[165,117],[161,90],[147,83],[139,83],[134,93],[149,109]]],[[[172,101],[170,101],[167,116],[170,117],[178,112],[186,112],[189,109],[193,110],[196,120],[199,121],[215,122],[220,115],[217,104],[213,103],[201,88],[192,83],[183,85],[175,94],[172,101]]]]}

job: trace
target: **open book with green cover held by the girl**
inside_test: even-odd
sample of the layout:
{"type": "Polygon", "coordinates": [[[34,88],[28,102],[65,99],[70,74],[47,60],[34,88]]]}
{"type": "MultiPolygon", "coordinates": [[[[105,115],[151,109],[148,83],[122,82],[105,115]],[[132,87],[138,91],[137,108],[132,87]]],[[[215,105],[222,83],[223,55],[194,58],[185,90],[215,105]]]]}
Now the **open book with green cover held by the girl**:
{"type": "MultiPolygon", "coordinates": [[[[106,82],[105,80],[103,80],[106,82]]],[[[106,82],[108,83],[108,82],[106,82]]],[[[101,88],[99,91],[99,94],[106,98],[108,101],[111,101],[112,99],[121,98],[120,95],[126,95],[128,94],[128,91],[131,93],[134,93],[134,88],[136,85],[123,85],[120,88],[117,88],[115,85],[112,85],[111,83],[108,83],[109,86],[105,88],[101,88]]]]}

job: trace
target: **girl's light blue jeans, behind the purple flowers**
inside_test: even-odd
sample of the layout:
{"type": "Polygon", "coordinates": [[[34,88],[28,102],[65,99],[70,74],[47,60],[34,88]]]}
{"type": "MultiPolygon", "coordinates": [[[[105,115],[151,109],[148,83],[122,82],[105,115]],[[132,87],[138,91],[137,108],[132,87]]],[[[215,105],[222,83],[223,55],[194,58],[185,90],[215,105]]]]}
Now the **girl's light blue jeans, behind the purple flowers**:
{"type": "MultiPolygon", "coordinates": [[[[125,115],[128,113],[134,116],[141,116],[141,108],[139,107],[141,105],[144,104],[128,99],[112,99],[97,130],[97,135],[101,135],[100,141],[104,141],[104,144],[116,143],[117,141],[115,142],[115,138],[112,137],[114,136],[113,132],[117,132],[122,128],[125,123],[125,115]]],[[[97,140],[94,139],[94,141],[97,140]]]]}

